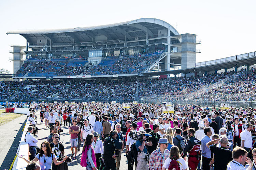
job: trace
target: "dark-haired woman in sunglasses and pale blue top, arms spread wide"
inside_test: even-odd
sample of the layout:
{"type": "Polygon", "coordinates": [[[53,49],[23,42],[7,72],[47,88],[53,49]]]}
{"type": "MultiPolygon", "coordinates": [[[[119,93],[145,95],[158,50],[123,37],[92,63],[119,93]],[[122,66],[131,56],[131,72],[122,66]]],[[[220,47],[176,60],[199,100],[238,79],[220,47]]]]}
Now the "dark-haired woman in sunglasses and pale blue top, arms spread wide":
{"type": "Polygon", "coordinates": [[[18,156],[18,157],[23,158],[28,164],[30,162],[37,162],[39,160],[41,169],[45,169],[45,170],[51,170],[52,163],[54,163],[55,165],[60,165],[63,162],[65,162],[65,160],[68,158],[67,156],[65,156],[62,159],[62,161],[58,161],[56,159],[55,154],[52,153],[52,148],[51,148],[49,142],[47,142],[47,141],[44,141],[41,144],[40,152],[35,156],[35,158],[32,161],[25,159],[22,155],[18,156]]]}

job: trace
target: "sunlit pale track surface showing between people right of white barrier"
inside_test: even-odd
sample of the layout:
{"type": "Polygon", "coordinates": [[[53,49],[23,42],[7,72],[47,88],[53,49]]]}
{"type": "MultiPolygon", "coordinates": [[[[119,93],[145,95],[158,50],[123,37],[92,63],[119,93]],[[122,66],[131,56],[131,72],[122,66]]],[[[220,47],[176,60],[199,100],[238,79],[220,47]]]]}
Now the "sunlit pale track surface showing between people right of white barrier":
{"type": "MultiPolygon", "coordinates": [[[[37,134],[39,142],[37,144],[38,144],[38,147],[40,147],[41,143],[43,141],[47,141],[47,137],[50,134],[50,129],[45,128],[44,122],[41,122],[39,112],[37,112],[37,127],[39,128],[39,131],[37,134]]],[[[71,146],[70,146],[70,134],[69,134],[68,126],[62,125],[61,129],[63,130],[63,132],[61,132],[60,141],[64,145],[65,154],[68,155],[69,157],[71,157],[72,152],[71,152],[71,146]]],[[[24,130],[24,131],[27,131],[27,130],[24,130]]],[[[72,162],[68,163],[70,170],[79,170],[79,169],[85,170],[86,169],[85,167],[81,167],[81,165],[80,165],[82,146],[83,146],[83,143],[81,144],[80,152],[77,152],[77,155],[76,155],[77,159],[72,158],[72,162]]],[[[133,167],[133,169],[135,170],[135,166],[133,167]]],[[[121,156],[119,170],[128,170],[128,163],[127,163],[127,159],[125,156],[125,150],[123,151],[122,156],[121,156]]]]}

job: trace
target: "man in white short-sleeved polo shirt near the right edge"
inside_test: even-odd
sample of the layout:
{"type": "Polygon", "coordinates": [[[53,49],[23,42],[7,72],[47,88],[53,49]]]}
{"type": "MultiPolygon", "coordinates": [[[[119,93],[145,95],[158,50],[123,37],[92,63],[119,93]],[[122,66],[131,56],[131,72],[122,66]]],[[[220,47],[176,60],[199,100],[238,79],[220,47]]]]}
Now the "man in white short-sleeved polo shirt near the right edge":
{"type": "Polygon", "coordinates": [[[247,123],[246,127],[247,127],[246,130],[244,130],[240,134],[241,147],[244,148],[249,153],[250,149],[253,148],[253,139],[250,133],[252,131],[253,125],[251,123],[247,123]]]}

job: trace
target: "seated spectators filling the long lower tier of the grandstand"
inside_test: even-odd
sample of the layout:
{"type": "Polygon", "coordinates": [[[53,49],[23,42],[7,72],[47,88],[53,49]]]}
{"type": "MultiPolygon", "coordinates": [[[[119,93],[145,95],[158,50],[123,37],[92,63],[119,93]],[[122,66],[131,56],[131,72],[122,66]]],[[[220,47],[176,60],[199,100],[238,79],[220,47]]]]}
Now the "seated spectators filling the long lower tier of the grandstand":
{"type": "Polygon", "coordinates": [[[111,101],[137,96],[158,98],[159,95],[189,100],[203,99],[216,101],[255,101],[255,68],[234,75],[234,71],[207,74],[202,77],[179,77],[166,80],[138,79],[112,81],[1,81],[2,98],[10,100],[97,100],[111,101]],[[228,81],[227,81],[228,80],[228,81]],[[216,83],[218,82],[218,83],[216,83]],[[8,93],[6,93],[7,91],[8,93]],[[137,91],[139,94],[136,94],[137,91]],[[135,95],[134,95],[135,94],[135,95]],[[54,98],[53,98],[54,97],[54,98]]]}

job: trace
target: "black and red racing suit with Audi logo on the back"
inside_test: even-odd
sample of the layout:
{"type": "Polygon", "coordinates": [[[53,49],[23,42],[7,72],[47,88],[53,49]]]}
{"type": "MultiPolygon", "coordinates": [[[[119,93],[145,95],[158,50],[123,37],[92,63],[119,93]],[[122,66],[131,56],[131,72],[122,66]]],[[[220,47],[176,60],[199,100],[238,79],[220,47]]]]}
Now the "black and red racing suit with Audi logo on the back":
{"type": "Polygon", "coordinates": [[[188,152],[188,167],[190,170],[196,170],[197,165],[200,162],[200,145],[201,141],[195,136],[192,136],[190,139],[187,140],[185,148],[181,153],[181,156],[184,157],[187,155],[188,152]]]}

